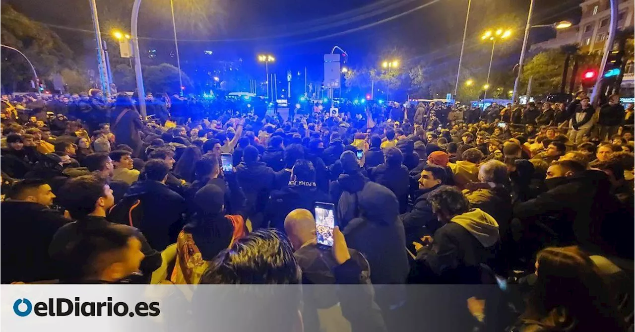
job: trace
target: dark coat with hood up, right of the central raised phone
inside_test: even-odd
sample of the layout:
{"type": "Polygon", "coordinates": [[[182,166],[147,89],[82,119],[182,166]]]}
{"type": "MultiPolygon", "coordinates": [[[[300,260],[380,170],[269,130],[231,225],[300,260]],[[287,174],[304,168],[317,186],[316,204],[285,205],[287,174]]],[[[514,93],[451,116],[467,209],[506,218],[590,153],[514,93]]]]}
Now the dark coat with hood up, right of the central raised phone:
{"type": "MultiPolygon", "coordinates": [[[[351,200],[342,194],[339,205],[351,200]]],[[[408,275],[406,236],[399,221],[397,197],[382,185],[366,182],[354,195],[350,209],[360,211],[344,229],[349,248],[366,256],[373,284],[403,284],[408,275]]]]}

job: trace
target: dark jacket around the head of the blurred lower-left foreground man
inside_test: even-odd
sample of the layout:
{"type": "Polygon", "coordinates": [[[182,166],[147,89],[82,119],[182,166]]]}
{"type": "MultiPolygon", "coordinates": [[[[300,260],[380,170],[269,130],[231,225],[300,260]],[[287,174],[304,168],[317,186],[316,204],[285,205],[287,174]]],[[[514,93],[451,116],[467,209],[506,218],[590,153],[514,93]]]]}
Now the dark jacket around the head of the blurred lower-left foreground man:
{"type": "MultiPolygon", "coordinates": [[[[119,229],[124,232],[128,232],[131,236],[135,236],[139,239],[139,241],[141,241],[141,251],[144,253],[145,257],[144,260],[141,261],[139,270],[147,278],[147,281],[149,281],[152,272],[161,266],[161,253],[153,249],[150,244],[148,244],[148,241],[145,239],[144,234],[142,234],[140,230],[128,225],[110,223],[106,220],[106,218],[102,218],[100,216],[86,216],[76,222],[67,223],[60,228],[55,233],[55,236],[51,241],[51,245],[48,247],[49,255],[56,262],[59,262],[61,265],[60,269],[63,269],[64,271],[72,270],[72,267],[69,267],[66,264],[66,262],[68,262],[68,256],[65,252],[67,244],[77,241],[85,230],[95,231],[105,227],[111,227],[112,225],[115,225],[114,227],[119,227],[119,229]]],[[[67,279],[68,277],[72,276],[64,275],[60,277],[60,279],[67,279]]]]}

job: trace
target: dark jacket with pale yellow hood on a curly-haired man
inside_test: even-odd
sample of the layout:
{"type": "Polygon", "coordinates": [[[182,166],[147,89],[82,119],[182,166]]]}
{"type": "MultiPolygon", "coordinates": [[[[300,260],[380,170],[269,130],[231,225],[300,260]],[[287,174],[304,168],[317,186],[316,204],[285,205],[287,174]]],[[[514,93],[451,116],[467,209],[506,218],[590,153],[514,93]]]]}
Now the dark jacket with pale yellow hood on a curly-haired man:
{"type": "Polygon", "coordinates": [[[454,216],[417,253],[408,283],[479,284],[481,263],[495,256],[498,223],[481,209],[454,216]]]}

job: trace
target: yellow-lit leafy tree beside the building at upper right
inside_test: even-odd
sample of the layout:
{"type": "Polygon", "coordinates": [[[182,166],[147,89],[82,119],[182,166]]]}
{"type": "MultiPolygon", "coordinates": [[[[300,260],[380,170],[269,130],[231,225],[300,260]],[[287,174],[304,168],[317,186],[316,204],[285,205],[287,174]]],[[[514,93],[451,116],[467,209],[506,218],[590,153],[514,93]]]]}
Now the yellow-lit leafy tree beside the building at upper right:
{"type": "Polygon", "coordinates": [[[525,89],[531,77],[532,95],[545,95],[558,91],[565,57],[559,50],[544,51],[533,56],[523,68],[521,83],[525,89]]]}

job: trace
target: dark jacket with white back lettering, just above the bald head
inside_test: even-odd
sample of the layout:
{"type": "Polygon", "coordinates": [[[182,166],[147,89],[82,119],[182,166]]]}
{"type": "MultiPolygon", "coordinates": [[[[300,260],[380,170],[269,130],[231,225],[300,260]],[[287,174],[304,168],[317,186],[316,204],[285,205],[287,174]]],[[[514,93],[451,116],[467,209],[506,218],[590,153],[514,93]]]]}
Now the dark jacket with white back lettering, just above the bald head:
{"type": "Polygon", "coordinates": [[[328,194],[318,190],[315,183],[293,183],[271,192],[265,210],[265,223],[269,222],[269,227],[284,230],[284,218],[294,209],[313,211],[316,202],[330,201],[328,194]]]}

